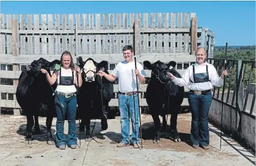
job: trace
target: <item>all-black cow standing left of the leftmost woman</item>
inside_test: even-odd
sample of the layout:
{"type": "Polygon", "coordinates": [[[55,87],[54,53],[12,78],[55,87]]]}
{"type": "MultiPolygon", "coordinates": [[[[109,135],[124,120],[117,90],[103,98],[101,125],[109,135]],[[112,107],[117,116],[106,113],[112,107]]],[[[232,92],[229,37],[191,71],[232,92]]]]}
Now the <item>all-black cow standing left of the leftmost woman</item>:
{"type": "MultiPolygon", "coordinates": [[[[32,143],[32,126],[35,124],[35,133],[40,134],[38,116],[46,115],[47,143],[54,145],[53,135],[51,134],[51,124],[53,117],[56,115],[54,96],[46,81],[45,74],[40,69],[44,68],[51,76],[49,68],[54,67],[56,63],[60,64],[60,60],[54,60],[53,62],[48,62],[43,58],[34,60],[26,70],[21,72],[18,79],[16,99],[27,117],[26,140],[29,144],[32,143]]],[[[52,85],[52,87],[55,90],[57,84],[52,85]]]]}

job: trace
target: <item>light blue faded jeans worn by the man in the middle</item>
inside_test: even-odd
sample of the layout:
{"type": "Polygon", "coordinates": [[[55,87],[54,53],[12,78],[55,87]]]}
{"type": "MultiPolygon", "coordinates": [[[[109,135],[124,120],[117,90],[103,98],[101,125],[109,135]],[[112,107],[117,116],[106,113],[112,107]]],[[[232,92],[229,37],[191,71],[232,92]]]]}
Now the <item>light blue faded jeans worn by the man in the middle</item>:
{"type": "Polygon", "coordinates": [[[133,133],[131,134],[131,144],[139,143],[139,105],[138,96],[119,94],[119,110],[122,142],[130,143],[130,118],[133,133]],[[134,103],[135,101],[135,103],[134,103]]]}

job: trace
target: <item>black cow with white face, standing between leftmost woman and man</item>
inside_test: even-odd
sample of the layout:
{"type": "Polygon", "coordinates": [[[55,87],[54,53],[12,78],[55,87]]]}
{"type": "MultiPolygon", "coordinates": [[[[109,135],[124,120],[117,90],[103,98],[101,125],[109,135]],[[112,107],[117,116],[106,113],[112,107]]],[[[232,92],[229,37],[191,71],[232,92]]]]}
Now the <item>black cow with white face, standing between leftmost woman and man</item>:
{"type": "Polygon", "coordinates": [[[100,63],[89,58],[82,61],[78,58],[79,67],[82,70],[82,86],[79,88],[78,108],[81,117],[80,131],[84,131],[86,126],[86,141],[92,140],[90,135],[90,120],[101,119],[101,129],[108,129],[109,101],[114,93],[112,82],[104,77],[98,76],[98,71],[103,70],[108,73],[108,62],[100,63]],[[102,90],[102,91],[101,91],[102,90]],[[102,94],[102,96],[101,96],[102,94]]]}

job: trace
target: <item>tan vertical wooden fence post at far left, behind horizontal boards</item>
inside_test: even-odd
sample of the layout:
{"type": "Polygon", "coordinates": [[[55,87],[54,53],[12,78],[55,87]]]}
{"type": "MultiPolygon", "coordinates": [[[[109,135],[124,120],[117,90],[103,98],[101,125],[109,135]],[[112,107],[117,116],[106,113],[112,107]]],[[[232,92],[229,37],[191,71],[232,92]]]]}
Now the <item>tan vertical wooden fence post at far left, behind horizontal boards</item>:
{"type": "MultiPolygon", "coordinates": [[[[12,56],[15,57],[20,55],[18,37],[18,20],[12,20],[12,56]]],[[[13,71],[19,70],[19,64],[13,63],[13,71]]],[[[16,87],[18,86],[18,79],[13,79],[13,85],[16,89],[16,87]]],[[[13,95],[13,100],[16,100],[16,95],[13,95]]],[[[20,109],[13,109],[13,115],[20,115],[20,109]]]]}

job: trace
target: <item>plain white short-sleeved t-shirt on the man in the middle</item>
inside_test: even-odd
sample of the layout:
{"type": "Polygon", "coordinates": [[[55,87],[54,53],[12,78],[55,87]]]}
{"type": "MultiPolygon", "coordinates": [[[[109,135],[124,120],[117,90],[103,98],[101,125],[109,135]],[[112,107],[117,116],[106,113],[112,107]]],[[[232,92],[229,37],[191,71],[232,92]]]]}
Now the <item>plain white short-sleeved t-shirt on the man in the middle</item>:
{"type": "MultiPolygon", "coordinates": [[[[146,74],[143,70],[141,63],[136,62],[137,70],[142,77],[145,78],[146,74]]],[[[122,93],[128,92],[137,92],[136,85],[136,74],[135,70],[135,62],[126,63],[125,60],[123,62],[119,62],[117,66],[112,71],[112,75],[119,78],[119,91],[122,93]]],[[[139,85],[139,78],[137,78],[137,82],[139,85]]]]}

